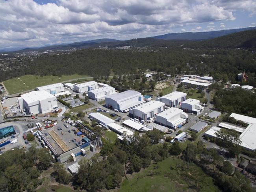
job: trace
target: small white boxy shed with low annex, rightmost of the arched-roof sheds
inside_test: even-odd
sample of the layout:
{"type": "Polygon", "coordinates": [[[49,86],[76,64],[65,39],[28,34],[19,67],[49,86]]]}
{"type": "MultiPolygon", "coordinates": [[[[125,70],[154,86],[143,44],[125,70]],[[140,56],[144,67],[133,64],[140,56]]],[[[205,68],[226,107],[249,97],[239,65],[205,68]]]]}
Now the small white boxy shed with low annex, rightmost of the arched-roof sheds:
{"type": "Polygon", "coordinates": [[[181,103],[181,109],[187,113],[199,114],[204,111],[200,101],[196,99],[187,99],[181,103]]]}

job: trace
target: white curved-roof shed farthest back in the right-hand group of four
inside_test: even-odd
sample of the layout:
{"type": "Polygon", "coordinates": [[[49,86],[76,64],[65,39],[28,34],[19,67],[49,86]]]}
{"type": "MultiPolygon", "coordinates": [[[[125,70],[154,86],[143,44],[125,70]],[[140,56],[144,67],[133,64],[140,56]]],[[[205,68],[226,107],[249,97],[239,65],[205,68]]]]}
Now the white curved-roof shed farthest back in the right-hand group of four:
{"type": "Polygon", "coordinates": [[[177,107],[186,100],[186,96],[187,94],[184,92],[174,91],[156,100],[165,103],[168,107],[177,107]]]}

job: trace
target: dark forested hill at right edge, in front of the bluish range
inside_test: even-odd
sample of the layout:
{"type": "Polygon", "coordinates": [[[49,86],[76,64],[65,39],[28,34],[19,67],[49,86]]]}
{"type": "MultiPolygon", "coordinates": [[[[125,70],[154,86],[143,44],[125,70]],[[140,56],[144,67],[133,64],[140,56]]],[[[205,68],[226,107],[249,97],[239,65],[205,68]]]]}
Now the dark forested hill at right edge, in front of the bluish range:
{"type": "Polygon", "coordinates": [[[186,44],[189,48],[256,48],[256,30],[241,31],[214,39],[186,44]]]}

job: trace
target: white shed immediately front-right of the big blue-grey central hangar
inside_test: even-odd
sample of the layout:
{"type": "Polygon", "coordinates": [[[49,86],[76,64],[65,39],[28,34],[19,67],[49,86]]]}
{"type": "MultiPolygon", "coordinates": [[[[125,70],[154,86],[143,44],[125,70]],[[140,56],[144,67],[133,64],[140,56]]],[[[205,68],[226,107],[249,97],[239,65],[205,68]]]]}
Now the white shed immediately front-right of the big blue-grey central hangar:
{"type": "Polygon", "coordinates": [[[164,109],[165,103],[159,101],[151,101],[130,109],[130,116],[139,120],[142,119],[147,121],[150,118],[156,116],[156,114],[163,112],[164,109]]]}

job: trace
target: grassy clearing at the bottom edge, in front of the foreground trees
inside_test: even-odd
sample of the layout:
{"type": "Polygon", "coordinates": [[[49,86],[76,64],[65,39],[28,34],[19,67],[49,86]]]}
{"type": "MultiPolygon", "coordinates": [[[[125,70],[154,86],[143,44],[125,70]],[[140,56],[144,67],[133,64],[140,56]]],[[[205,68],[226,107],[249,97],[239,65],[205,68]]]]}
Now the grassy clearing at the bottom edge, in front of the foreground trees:
{"type": "MultiPolygon", "coordinates": [[[[120,186],[119,192],[196,192],[197,185],[201,192],[219,192],[214,185],[213,179],[206,175],[201,168],[191,164],[189,170],[179,168],[176,164],[184,163],[180,159],[169,157],[157,164],[150,165],[147,169],[125,179],[120,186]]],[[[186,165],[183,165],[186,167],[186,165]]]]}

